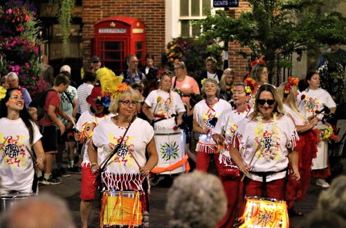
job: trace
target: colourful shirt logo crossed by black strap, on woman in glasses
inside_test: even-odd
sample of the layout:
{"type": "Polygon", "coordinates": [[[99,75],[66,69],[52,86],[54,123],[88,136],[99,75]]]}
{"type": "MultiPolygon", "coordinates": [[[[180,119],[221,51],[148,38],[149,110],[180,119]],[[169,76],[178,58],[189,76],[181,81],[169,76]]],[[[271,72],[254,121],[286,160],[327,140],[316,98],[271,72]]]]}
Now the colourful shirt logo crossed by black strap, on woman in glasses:
{"type": "MultiPolygon", "coordinates": [[[[133,136],[126,136],[122,143],[118,146],[116,153],[111,158],[110,164],[118,164],[119,166],[131,167],[134,162],[134,157],[131,153],[134,153],[133,136]],[[129,152],[131,151],[131,153],[129,152]]],[[[109,153],[120,143],[121,137],[116,137],[113,134],[110,135],[109,153]]]]}

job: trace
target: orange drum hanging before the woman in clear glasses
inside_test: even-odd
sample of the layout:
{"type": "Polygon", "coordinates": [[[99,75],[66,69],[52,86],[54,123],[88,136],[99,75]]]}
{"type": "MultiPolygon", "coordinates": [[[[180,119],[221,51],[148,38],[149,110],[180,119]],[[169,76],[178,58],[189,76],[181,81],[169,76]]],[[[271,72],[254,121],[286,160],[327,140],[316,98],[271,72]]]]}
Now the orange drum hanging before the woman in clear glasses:
{"type": "Polygon", "coordinates": [[[103,191],[100,227],[142,225],[140,195],[140,191],[103,191]]]}

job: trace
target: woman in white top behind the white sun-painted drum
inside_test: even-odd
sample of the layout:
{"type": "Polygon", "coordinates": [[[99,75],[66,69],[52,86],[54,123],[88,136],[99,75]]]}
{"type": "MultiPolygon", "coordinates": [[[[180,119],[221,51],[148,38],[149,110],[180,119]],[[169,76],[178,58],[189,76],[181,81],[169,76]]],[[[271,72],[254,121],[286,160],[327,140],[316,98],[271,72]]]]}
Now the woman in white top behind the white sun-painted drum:
{"type": "Polygon", "coordinates": [[[154,122],[154,129],[172,129],[183,122],[185,107],[179,94],[171,90],[172,77],[168,73],[163,73],[159,82],[160,88],[145,99],[143,112],[154,122]]]}

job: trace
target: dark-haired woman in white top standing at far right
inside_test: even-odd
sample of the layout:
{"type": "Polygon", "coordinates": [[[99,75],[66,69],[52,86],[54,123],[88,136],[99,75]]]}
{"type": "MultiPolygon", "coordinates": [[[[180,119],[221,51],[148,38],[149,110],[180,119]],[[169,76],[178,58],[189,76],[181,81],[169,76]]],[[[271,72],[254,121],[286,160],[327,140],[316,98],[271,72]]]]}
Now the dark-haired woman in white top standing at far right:
{"type": "MultiPolygon", "coordinates": [[[[318,126],[315,128],[322,129],[327,128],[322,126],[322,118],[326,114],[334,114],[336,111],[336,104],[331,98],[331,95],[320,87],[320,75],[315,72],[307,73],[305,77],[305,86],[302,87],[301,93],[298,95],[298,104],[300,110],[304,113],[305,117],[318,117],[320,120],[318,126]],[[320,111],[330,109],[329,113],[320,113],[320,111]]],[[[312,160],[312,173],[314,178],[317,178],[316,184],[321,187],[329,187],[329,184],[325,181],[330,175],[330,169],[328,165],[328,143],[326,140],[320,140],[317,145],[318,152],[317,157],[312,160]]]]}

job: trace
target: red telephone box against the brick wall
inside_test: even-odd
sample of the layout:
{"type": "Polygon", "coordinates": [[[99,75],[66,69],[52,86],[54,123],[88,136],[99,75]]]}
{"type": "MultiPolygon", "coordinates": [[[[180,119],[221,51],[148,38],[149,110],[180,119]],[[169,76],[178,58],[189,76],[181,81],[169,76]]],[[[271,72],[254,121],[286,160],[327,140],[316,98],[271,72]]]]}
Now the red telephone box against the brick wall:
{"type": "MultiPolygon", "coordinates": [[[[145,24],[133,17],[113,16],[94,23],[94,55],[116,74],[125,70],[127,55],[145,64],[145,24]]],[[[144,66],[144,65],[143,65],[144,66]]]]}

